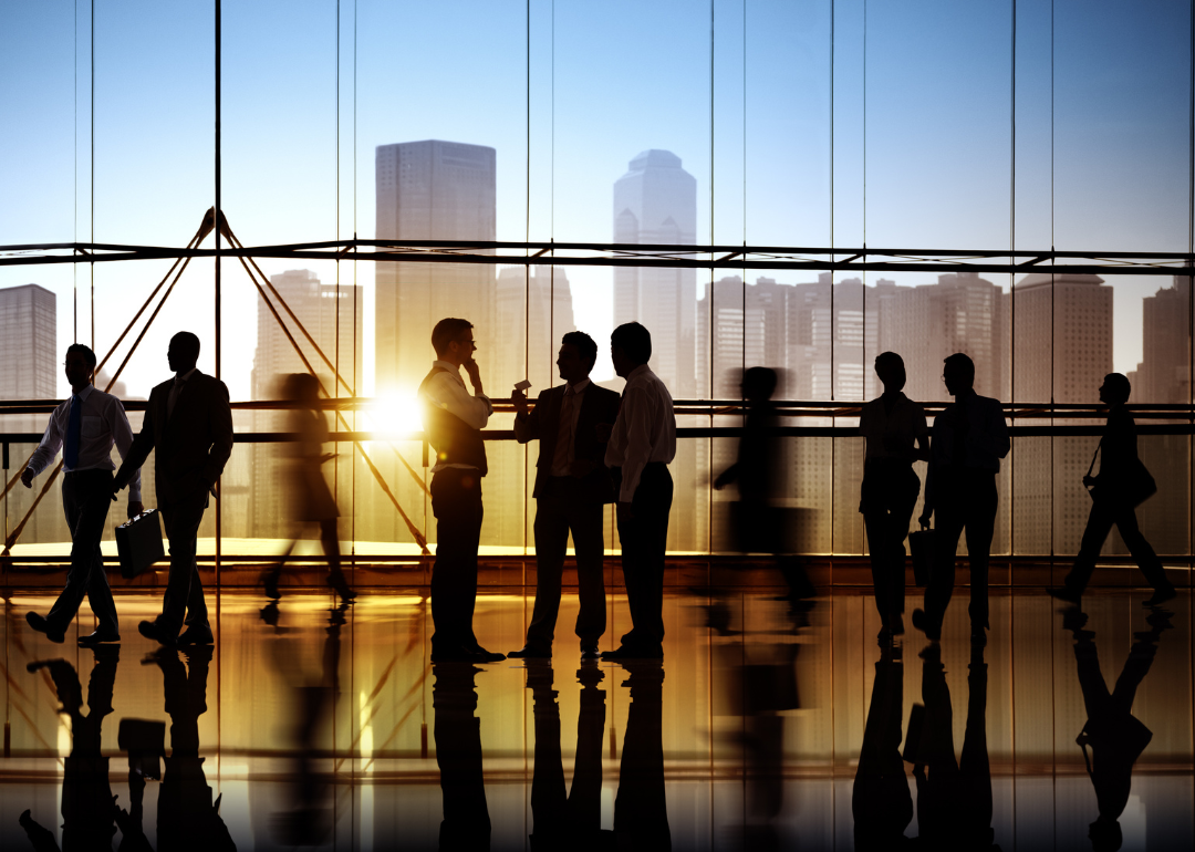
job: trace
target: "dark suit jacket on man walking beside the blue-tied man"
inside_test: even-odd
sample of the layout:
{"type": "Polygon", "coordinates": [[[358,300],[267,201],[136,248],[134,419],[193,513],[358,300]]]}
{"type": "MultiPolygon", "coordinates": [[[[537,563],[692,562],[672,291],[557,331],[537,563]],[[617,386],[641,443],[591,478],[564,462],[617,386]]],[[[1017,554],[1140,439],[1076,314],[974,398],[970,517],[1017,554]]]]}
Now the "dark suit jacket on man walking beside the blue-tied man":
{"type": "Polygon", "coordinates": [[[220,478],[232,454],[232,410],[228,388],[219,379],[196,370],[183,387],[167,419],[168,379],[149,392],[145,424],[116,473],[124,488],[133,473],[157,449],[154,476],[160,503],[173,503],[207,490],[220,478]]]}

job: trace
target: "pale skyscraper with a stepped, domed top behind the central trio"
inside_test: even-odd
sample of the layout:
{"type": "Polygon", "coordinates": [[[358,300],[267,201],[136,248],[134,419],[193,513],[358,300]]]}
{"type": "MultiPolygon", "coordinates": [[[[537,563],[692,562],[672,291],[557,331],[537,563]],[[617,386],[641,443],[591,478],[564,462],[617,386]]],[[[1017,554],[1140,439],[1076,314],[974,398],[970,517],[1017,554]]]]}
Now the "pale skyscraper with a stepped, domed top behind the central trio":
{"type": "MultiPolygon", "coordinates": [[[[644,151],[614,183],[614,241],[693,245],[697,241],[697,179],[668,151],[644,151]]],[[[651,332],[651,369],[674,399],[697,391],[693,324],[697,272],[692,269],[618,266],[614,269],[614,325],[631,320],[651,332]]],[[[678,425],[695,425],[678,421],[678,425]]],[[[679,485],[668,525],[669,550],[707,546],[704,492],[687,485],[698,476],[697,441],[679,441],[672,465],[679,485]]],[[[704,453],[703,453],[704,456],[704,453]]]]}

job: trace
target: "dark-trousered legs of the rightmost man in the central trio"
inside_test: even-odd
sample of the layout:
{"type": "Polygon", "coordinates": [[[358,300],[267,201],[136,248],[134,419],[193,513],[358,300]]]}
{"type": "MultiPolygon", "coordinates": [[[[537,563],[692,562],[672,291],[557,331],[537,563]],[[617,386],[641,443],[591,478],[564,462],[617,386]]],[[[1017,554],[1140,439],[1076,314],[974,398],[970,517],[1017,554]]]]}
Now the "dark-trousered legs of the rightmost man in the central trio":
{"type": "Polygon", "coordinates": [[[623,636],[630,656],[661,656],[664,639],[664,551],[673,482],[668,466],[651,462],[643,468],[631,503],[631,516],[620,515],[623,581],[631,609],[631,631],[623,636]]]}

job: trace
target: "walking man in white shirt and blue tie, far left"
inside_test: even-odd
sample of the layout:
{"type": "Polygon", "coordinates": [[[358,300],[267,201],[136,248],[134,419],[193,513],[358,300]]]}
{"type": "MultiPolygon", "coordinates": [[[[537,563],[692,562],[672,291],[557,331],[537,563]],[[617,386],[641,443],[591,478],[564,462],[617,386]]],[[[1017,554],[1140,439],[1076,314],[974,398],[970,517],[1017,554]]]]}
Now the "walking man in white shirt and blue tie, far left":
{"type": "MultiPolygon", "coordinates": [[[[50,608],[49,615],[26,613],[29,625],[45,633],[50,642],[62,642],[66,630],[79,612],[84,595],[99,626],[79,644],[88,648],[102,642],[120,642],[121,630],[116,603],[108,586],[99,540],[112,503],[112,445],[123,459],[133,445],[133,430],[121,400],[91,384],[96,353],[81,343],[67,349],[65,361],[71,399],[50,415],[42,442],[33,450],[20,482],[32,488],[33,477],[44,471],[62,449],[62,510],[71,528],[71,570],[67,584],[50,608]]],[[[130,483],[129,517],[141,513],[141,474],[130,483]]]]}

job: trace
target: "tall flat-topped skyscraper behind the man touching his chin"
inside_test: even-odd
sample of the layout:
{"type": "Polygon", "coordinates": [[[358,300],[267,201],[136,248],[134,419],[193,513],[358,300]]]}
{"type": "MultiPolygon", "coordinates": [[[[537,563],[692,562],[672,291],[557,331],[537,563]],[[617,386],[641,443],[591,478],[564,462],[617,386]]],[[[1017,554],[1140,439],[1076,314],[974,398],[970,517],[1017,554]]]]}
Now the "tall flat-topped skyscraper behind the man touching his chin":
{"type": "MultiPolygon", "coordinates": [[[[378,239],[494,240],[494,148],[427,140],[376,151],[378,239]]],[[[482,378],[494,372],[494,268],[489,264],[379,263],[378,394],[413,392],[435,353],[431,327],[445,317],[473,323],[482,378]]]]}

